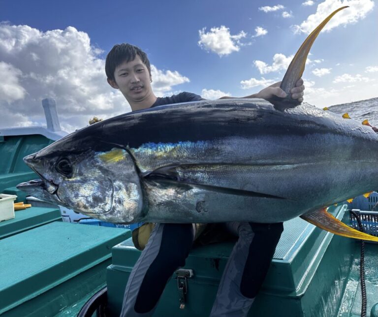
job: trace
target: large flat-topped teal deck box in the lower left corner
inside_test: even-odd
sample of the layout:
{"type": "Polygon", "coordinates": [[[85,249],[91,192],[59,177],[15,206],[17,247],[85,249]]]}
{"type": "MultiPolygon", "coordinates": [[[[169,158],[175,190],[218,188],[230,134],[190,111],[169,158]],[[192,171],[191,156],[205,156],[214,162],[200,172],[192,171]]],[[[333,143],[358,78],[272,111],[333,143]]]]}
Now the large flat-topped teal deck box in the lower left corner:
{"type": "MultiPolygon", "coordinates": [[[[30,216],[51,213],[32,209],[30,216]]],[[[26,213],[16,212],[14,222],[26,213]]],[[[126,229],[54,221],[1,239],[0,315],[55,316],[92,294],[105,284],[112,246],[130,235],[126,229]]]]}

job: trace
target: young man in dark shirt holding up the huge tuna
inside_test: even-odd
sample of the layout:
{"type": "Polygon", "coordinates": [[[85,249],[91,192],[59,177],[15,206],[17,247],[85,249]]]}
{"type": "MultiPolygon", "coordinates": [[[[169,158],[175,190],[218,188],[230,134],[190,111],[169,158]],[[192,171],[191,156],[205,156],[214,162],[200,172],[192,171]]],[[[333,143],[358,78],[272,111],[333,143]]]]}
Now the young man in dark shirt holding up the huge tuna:
{"type": "MultiPolygon", "coordinates": [[[[158,98],[151,88],[147,55],[130,44],[115,45],[106,57],[107,81],[119,89],[132,111],[164,104],[198,101],[201,96],[181,93],[158,98]]],[[[244,98],[284,97],[280,83],[244,98]]],[[[304,85],[298,80],[292,98],[303,101],[304,85]]],[[[232,98],[224,96],[223,98],[232,98]]],[[[169,124],[169,123],[167,123],[169,124]]],[[[210,316],[246,316],[268,271],[283,231],[282,223],[230,222],[226,227],[239,236],[223,272],[210,316]]],[[[121,316],[153,316],[164,287],[174,271],[185,265],[196,236],[192,224],[156,224],[126,285],[121,316]]]]}

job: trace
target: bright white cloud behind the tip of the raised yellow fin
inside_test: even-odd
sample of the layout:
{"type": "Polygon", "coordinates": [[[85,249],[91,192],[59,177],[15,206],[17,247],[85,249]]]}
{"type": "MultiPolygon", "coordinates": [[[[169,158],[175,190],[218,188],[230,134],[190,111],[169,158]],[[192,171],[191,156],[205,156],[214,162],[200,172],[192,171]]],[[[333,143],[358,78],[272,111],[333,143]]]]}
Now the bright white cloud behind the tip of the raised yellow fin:
{"type": "Polygon", "coordinates": [[[315,14],[311,14],[300,25],[293,26],[294,32],[311,33],[331,12],[348,5],[338,12],[324,27],[323,31],[330,31],[339,25],[356,23],[365,18],[366,14],[374,7],[373,0],[325,0],[317,5],[315,14]]]}

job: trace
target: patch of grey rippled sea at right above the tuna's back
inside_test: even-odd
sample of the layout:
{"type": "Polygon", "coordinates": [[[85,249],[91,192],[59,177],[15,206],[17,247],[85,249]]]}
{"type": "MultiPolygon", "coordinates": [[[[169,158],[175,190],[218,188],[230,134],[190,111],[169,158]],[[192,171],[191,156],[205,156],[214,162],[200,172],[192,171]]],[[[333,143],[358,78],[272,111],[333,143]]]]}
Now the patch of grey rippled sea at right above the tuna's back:
{"type": "Polygon", "coordinates": [[[372,126],[378,127],[378,97],[337,104],[328,107],[328,109],[340,115],[347,112],[350,118],[361,123],[367,119],[372,126]]]}

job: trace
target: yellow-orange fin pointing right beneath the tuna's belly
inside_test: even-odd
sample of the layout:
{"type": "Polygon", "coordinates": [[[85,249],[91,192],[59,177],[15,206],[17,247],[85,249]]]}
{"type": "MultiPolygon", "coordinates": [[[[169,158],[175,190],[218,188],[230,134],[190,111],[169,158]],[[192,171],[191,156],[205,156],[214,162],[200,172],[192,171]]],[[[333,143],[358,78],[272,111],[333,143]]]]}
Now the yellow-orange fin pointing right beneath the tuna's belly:
{"type": "Polygon", "coordinates": [[[327,213],[325,208],[312,214],[302,215],[301,218],[315,224],[319,228],[339,236],[378,242],[378,237],[357,231],[356,229],[347,226],[345,223],[327,213]]]}

